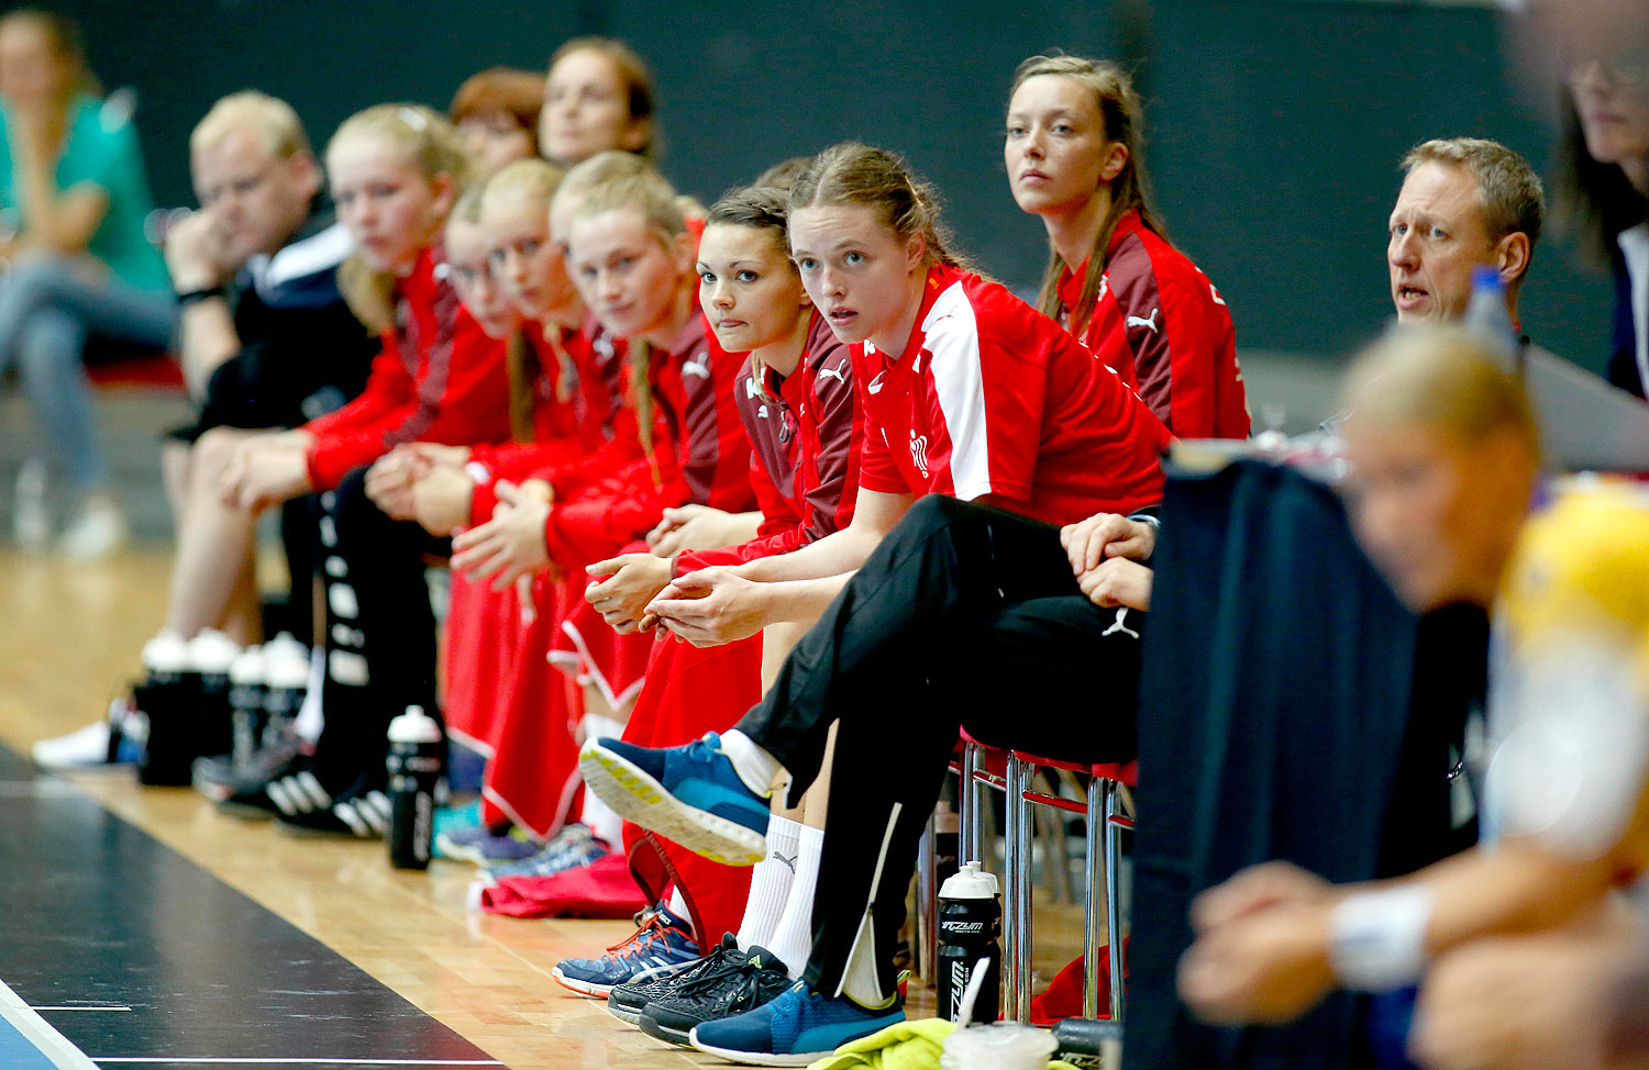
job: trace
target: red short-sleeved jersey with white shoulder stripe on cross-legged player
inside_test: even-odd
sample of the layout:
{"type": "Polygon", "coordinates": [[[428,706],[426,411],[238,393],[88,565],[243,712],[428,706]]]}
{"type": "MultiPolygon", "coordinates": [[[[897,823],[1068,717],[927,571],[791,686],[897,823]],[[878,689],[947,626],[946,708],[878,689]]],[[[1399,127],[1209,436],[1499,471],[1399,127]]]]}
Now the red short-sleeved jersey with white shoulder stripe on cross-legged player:
{"type": "Polygon", "coordinates": [[[1054,524],[1161,498],[1163,422],[1001,284],[935,265],[904,353],[853,353],[867,490],[989,495],[1054,524]]]}

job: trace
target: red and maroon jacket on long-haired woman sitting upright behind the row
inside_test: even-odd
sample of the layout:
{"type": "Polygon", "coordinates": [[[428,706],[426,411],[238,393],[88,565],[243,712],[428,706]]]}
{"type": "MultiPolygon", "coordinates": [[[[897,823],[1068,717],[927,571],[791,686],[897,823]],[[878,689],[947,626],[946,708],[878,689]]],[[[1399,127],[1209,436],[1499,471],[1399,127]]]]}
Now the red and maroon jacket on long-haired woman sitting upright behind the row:
{"type": "MultiPolygon", "coordinates": [[[[1088,265],[1059,275],[1060,323],[1082,298],[1088,265]]],[[[1247,439],[1248,397],[1225,298],[1138,211],[1116,223],[1093,315],[1072,330],[1116,368],[1181,439],[1247,439]]]]}

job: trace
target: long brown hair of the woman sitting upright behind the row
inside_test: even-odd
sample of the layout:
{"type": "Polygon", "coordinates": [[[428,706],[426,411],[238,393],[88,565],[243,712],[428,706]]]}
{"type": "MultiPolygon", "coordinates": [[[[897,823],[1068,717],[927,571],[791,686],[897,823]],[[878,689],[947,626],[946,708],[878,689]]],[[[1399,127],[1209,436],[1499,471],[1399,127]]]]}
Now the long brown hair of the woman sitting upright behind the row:
{"type": "MultiPolygon", "coordinates": [[[[1100,231],[1093,236],[1093,247],[1088,252],[1088,274],[1082,279],[1082,293],[1077,305],[1067,308],[1067,325],[1073,335],[1082,335],[1090,318],[1093,305],[1100,298],[1100,282],[1105,275],[1105,262],[1111,249],[1111,236],[1116,224],[1130,211],[1139,213],[1139,223],[1159,237],[1167,237],[1163,219],[1151,204],[1151,183],[1144,170],[1144,119],[1139,94],[1135,92],[1128,73],[1115,63],[1105,59],[1088,59],[1085,56],[1031,56],[1014,71],[1014,84],[1008,91],[1012,101],[1019,87],[1032,77],[1055,76],[1069,77],[1093,94],[1093,102],[1105,124],[1105,140],[1128,150],[1123,170],[1110,181],[1111,206],[1100,221],[1100,231]]],[[[1059,275],[1065,269],[1077,270],[1080,264],[1065,264],[1059,249],[1049,246],[1047,270],[1042,272],[1042,289],[1037,295],[1037,312],[1059,318],[1059,275]]]]}

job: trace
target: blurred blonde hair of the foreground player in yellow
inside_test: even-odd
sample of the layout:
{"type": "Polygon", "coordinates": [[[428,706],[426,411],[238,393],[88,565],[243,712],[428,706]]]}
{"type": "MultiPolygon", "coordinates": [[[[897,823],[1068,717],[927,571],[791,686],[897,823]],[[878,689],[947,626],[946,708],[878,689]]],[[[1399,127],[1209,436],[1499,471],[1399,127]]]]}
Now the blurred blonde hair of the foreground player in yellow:
{"type": "Polygon", "coordinates": [[[1459,325],[1395,326],[1346,373],[1351,417],[1379,427],[1420,424],[1466,442],[1512,432],[1540,455],[1540,432],[1522,381],[1497,351],[1459,325]]]}

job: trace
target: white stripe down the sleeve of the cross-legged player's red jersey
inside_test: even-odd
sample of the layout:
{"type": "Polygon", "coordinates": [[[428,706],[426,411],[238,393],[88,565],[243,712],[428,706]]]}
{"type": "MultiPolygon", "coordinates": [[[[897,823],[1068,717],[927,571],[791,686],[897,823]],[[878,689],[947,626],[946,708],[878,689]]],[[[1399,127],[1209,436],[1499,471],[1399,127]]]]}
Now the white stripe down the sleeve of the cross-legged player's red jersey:
{"type": "Polygon", "coordinates": [[[991,442],[984,425],[984,373],[980,325],[960,282],[950,284],[922,321],[928,371],[950,437],[950,478],[956,496],[971,501],[991,493],[991,442]]]}

